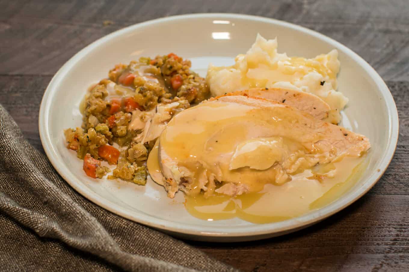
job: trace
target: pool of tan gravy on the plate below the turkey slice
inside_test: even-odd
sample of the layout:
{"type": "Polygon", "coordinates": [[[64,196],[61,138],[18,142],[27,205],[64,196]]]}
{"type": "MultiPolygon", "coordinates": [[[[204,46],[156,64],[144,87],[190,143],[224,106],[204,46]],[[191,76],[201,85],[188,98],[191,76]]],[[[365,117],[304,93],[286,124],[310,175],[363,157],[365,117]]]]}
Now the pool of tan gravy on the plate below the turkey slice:
{"type": "Polygon", "coordinates": [[[271,223],[303,215],[338,199],[352,188],[366,166],[366,156],[345,157],[330,163],[327,169],[313,168],[294,175],[281,185],[266,184],[260,192],[236,197],[203,194],[186,195],[185,207],[194,217],[207,221],[238,217],[252,223],[271,223]],[[333,169],[331,169],[333,168],[333,169]],[[323,171],[324,170],[324,171],[323,171]],[[333,171],[335,177],[316,179],[333,171]]]}

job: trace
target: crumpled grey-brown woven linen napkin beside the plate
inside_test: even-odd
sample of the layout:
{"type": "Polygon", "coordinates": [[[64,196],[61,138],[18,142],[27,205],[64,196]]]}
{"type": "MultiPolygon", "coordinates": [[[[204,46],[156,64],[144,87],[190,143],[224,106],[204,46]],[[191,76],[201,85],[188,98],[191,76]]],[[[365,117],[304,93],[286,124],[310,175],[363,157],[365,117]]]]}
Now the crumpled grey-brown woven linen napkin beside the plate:
{"type": "Polygon", "coordinates": [[[0,105],[0,270],[235,271],[75,192],[0,105]]]}

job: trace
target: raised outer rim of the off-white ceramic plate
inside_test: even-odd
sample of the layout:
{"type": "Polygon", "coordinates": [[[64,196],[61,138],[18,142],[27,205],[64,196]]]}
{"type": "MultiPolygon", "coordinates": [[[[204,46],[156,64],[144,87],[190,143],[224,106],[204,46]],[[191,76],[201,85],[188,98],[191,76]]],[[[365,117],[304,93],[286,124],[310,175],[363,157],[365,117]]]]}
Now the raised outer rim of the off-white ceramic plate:
{"type": "MultiPolygon", "coordinates": [[[[61,77],[63,78],[63,77],[61,77]]],[[[299,230],[300,228],[307,227],[312,225],[313,223],[317,223],[327,217],[330,217],[331,215],[334,215],[335,213],[339,212],[340,210],[346,208],[347,206],[351,205],[353,202],[355,202],[357,199],[362,197],[366,192],[368,192],[382,177],[384,172],[387,170],[393,155],[396,150],[396,146],[398,144],[398,135],[399,135],[399,117],[398,117],[398,111],[396,108],[396,104],[393,100],[393,96],[385,84],[385,82],[382,80],[380,75],[373,69],[373,67],[367,63],[362,57],[360,57],[357,53],[349,49],[348,47],[344,46],[340,42],[337,42],[336,40],[333,40],[332,38],[329,38],[328,36],[321,34],[317,31],[313,31],[311,29],[308,29],[306,27],[299,26],[297,24],[292,24],[290,22],[285,22],[282,20],[277,20],[277,19],[272,19],[272,18],[266,18],[266,17],[261,17],[261,16],[255,16],[255,15],[244,15],[244,14],[236,14],[236,13],[194,13],[194,14],[184,14],[184,15],[174,15],[174,16],[169,16],[169,17],[164,17],[164,18],[157,18],[154,20],[149,20],[145,22],[140,22],[137,24],[130,25],[128,27],[119,29],[117,31],[114,31],[108,35],[105,35],[98,40],[92,42],[91,44],[88,44],[85,46],[83,49],[81,49],[79,52],[77,52],[74,56],[72,56],[63,66],[61,66],[60,69],[58,69],[57,73],[52,77],[52,80],[49,82],[44,94],[43,98],[41,100],[40,104],[40,111],[39,111],[39,117],[38,117],[38,128],[39,128],[39,134],[40,134],[40,139],[41,139],[41,144],[43,145],[44,151],[53,165],[54,169],[58,172],[61,177],[74,189],[76,190],[79,194],[81,194],[83,197],[86,199],[92,201],[93,203],[97,204],[98,206],[115,213],[121,217],[124,217],[126,219],[135,221],[137,223],[142,223],[145,226],[150,226],[165,232],[172,232],[176,234],[189,234],[193,236],[199,236],[199,237],[257,237],[257,236],[266,236],[271,234],[271,236],[274,236],[274,234],[280,234],[280,233],[288,233],[291,232],[292,230],[296,231],[299,230]],[[381,160],[380,160],[380,172],[374,171],[367,179],[364,181],[362,186],[357,188],[357,190],[351,192],[348,195],[343,195],[339,199],[335,200],[334,202],[330,203],[329,205],[320,208],[318,210],[308,212],[304,215],[301,215],[300,217],[295,217],[292,219],[288,219],[285,221],[280,221],[280,222],[274,222],[274,223],[267,223],[267,224],[255,224],[254,226],[241,226],[241,227],[235,227],[235,230],[229,230],[229,231],[217,231],[216,228],[220,228],[217,226],[200,226],[202,230],[196,230],[195,227],[198,227],[197,225],[186,225],[174,221],[168,221],[165,219],[160,219],[157,217],[154,217],[153,215],[148,215],[144,213],[143,211],[133,211],[135,215],[138,215],[135,217],[134,215],[130,215],[126,210],[124,211],[124,208],[121,208],[121,206],[112,203],[106,199],[103,199],[103,197],[99,196],[97,193],[93,192],[90,190],[88,187],[86,187],[83,184],[77,184],[75,181],[69,178],[70,176],[70,170],[64,169],[63,165],[58,164],[58,159],[56,157],[56,149],[53,147],[50,135],[49,135],[49,130],[48,130],[48,112],[49,107],[51,106],[50,102],[52,100],[53,94],[56,92],[56,87],[58,86],[58,80],[63,75],[63,73],[67,72],[70,67],[72,67],[77,60],[79,60],[83,55],[87,55],[92,51],[94,48],[104,44],[105,42],[108,42],[112,38],[115,38],[116,36],[121,36],[124,35],[128,32],[134,31],[139,28],[146,27],[151,24],[157,24],[157,23],[162,23],[162,22],[167,22],[171,20],[185,20],[185,19],[196,19],[196,18],[208,18],[208,19],[220,19],[220,18],[226,18],[226,19],[244,19],[244,20],[252,20],[252,21],[259,21],[259,22],[265,22],[268,24],[276,24],[280,25],[283,27],[289,27],[291,29],[295,29],[298,31],[301,31],[303,33],[306,33],[307,35],[312,35],[320,40],[324,40],[328,42],[329,44],[332,44],[344,51],[347,55],[349,55],[357,64],[359,64],[371,77],[371,79],[375,82],[375,84],[378,86],[382,93],[382,98],[385,100],[385,103],[387,105],[387,112],[389,113],[389,139],[388,139],[388,144],[386,146],[386,152],[383,153],[381,160]],[[82,186],[81,186],[82,185],[82,186]],[[122,210],[122,211],[121,211],[122,210]],[[275,226],[274,226],[275,225],[275,226]],[[187,228],[187,226],[190,226],[190,228],[187,228]]],[[[255,238],[256,239],[256,238],[255,238]]]]}

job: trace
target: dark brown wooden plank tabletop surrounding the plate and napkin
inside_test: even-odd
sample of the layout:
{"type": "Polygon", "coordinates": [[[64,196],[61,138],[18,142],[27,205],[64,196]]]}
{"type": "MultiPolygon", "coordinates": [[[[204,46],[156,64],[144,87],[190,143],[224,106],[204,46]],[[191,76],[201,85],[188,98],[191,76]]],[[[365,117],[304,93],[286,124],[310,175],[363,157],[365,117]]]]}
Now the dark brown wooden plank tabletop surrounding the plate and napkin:
{"type": "Polygon", "coordinates": [[[54,73],[72,55],[131,24],[198,12],[276,18],[345,44],[387,82],[398,107],[400,133],[380,181],[329,219],[263,241],[187,243],[244,271],[409,271],[408,0],[0,0],[0,103],[29,142],[44,152],[38,135],[40,101],[54,73]],[[106,20],[113,23],[104,25],[106,20]]]}

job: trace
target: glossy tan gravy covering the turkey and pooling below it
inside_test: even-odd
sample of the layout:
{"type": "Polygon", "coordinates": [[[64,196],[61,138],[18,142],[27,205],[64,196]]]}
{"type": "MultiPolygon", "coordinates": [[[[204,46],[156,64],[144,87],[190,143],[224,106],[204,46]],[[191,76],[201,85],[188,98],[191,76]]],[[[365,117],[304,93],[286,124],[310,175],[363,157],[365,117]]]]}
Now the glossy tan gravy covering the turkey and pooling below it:
{"type": "Polygon", "coordinates": [[[160,184],[164,164],[169,161],[174,164],[165,167],[173,175],[191,173],[189,184],[184,185],[185,206],[194,217],[282,221],[326,206],[360,178],[366,158],[362,149],[351,146],[336,159],[330,155],[338,154],[339,142],[364,141],[364,136],[346,133],[342,127],[282,104],[258,108],[220,100],[173,117],[147,162],[149,173],[160,184]],[[285,161],[294,154],[295,162],[285,161]],[[283,175],[280,167],[288,172],[283,175]],[[211,179],[216,183],[202,182],[211,179]],[[242,195],[232,194],[235,197],[217,193],[229,183],[244,184],[248,190],[242,195]]]}

